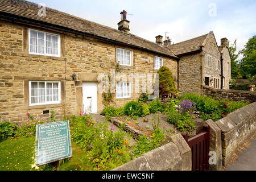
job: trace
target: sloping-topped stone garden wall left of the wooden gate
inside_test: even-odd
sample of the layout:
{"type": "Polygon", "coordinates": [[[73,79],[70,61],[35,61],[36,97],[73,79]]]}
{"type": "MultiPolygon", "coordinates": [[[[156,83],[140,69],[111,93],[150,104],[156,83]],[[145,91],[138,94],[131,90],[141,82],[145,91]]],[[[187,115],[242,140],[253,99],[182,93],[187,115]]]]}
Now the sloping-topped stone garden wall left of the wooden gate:
{"type": "Polygon", "coordinates": [[[167,144],[113,171],[190,171],[191,165],[191,149],[182,135],[176,134],[167,140],[167,144]]]}

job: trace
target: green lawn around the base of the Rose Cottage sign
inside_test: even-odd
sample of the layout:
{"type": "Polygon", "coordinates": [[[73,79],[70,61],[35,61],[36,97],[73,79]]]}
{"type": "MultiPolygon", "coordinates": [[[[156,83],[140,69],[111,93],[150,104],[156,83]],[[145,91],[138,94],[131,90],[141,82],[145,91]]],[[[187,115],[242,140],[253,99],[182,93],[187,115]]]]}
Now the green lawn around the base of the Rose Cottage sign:
{"type": "MultiPolygon", "coordinates": [[[[7,139],[0,142],[0,171],[30,171],[35,136],[7,139]]],[[[73,157],[60,163],[60,171],[91,170],[90,160],[75,142],[72,144],[73,157]],[[82,159],[82,162],[81,162],[82,159]]],[[[43,168],[40,168],[42,170],[43,168]]]]}

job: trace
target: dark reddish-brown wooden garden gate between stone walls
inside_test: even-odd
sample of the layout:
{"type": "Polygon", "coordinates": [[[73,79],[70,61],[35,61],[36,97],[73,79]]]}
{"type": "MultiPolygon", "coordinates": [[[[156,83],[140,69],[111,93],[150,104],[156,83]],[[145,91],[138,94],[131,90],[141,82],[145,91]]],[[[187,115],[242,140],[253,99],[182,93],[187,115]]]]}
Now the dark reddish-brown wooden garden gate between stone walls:
{"type": "Polygon", "coordinates": [[[204,125],[203,132],[188,138],[187,133],[182,133],[192,153],[192,171],[209,170],[209,125],[204,125]]]}

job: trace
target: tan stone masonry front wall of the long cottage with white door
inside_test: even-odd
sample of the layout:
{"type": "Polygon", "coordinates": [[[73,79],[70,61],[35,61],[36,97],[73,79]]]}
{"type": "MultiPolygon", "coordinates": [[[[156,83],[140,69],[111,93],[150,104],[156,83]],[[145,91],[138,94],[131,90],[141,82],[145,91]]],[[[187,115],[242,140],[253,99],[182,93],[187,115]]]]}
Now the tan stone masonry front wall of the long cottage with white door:
{"type": "MultiPolygon", "coordinates": [[[[156,73],[154,56],[163,57],[163,65],[169,67],[177,81],[177,61],[170,57],[157,55],[117,44],[110,44],[46,28],[0,22],[0,122],[20,122],[26,113],[34,117],[49,118],[43,110],[55,111],[57,120],[62,118],[61,106],[68,105],[69,115],[79,113],[82,105],[82,82],[97,81],[99,73],[110,73],[115,69],[116,48],[131,51],[131,66],[120,66],[120,73],[156,73]],[[60,35],[60,57],[28,54],[28,28],[60,35]],[[72,78],[76,73],[76,80],[72,78]],[[48,105],[29,105],[28,82],[61,81],[61,103],[48,105]]],[[[122,80],[122,79],[121,79],[122,80]]],[[[134,85],[133,85],[134,86],[134,85]]],[[[141,87],[141,85],[140,85],[141,87]]],[[[139,93],[130,98],[116,99],[112,105],[121,106],[130,100],[137,100],[139,93]]],[[[103,109],[102,96],[98,94],[98,113],[103,109]]]]}

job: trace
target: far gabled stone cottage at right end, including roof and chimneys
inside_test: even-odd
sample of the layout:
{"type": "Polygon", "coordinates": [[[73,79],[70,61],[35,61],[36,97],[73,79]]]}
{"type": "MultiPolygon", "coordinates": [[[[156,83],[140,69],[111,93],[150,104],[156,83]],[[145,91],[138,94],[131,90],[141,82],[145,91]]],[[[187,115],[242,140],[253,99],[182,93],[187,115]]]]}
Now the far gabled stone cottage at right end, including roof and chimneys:
{"type": "Polygon", "coordinates": [[[212,31],[184,42],[166,45],[179,57],[179,92],[202,94],[202,85],[229,89],[231,59],[228,39],[218,47],[212,31]]]}

